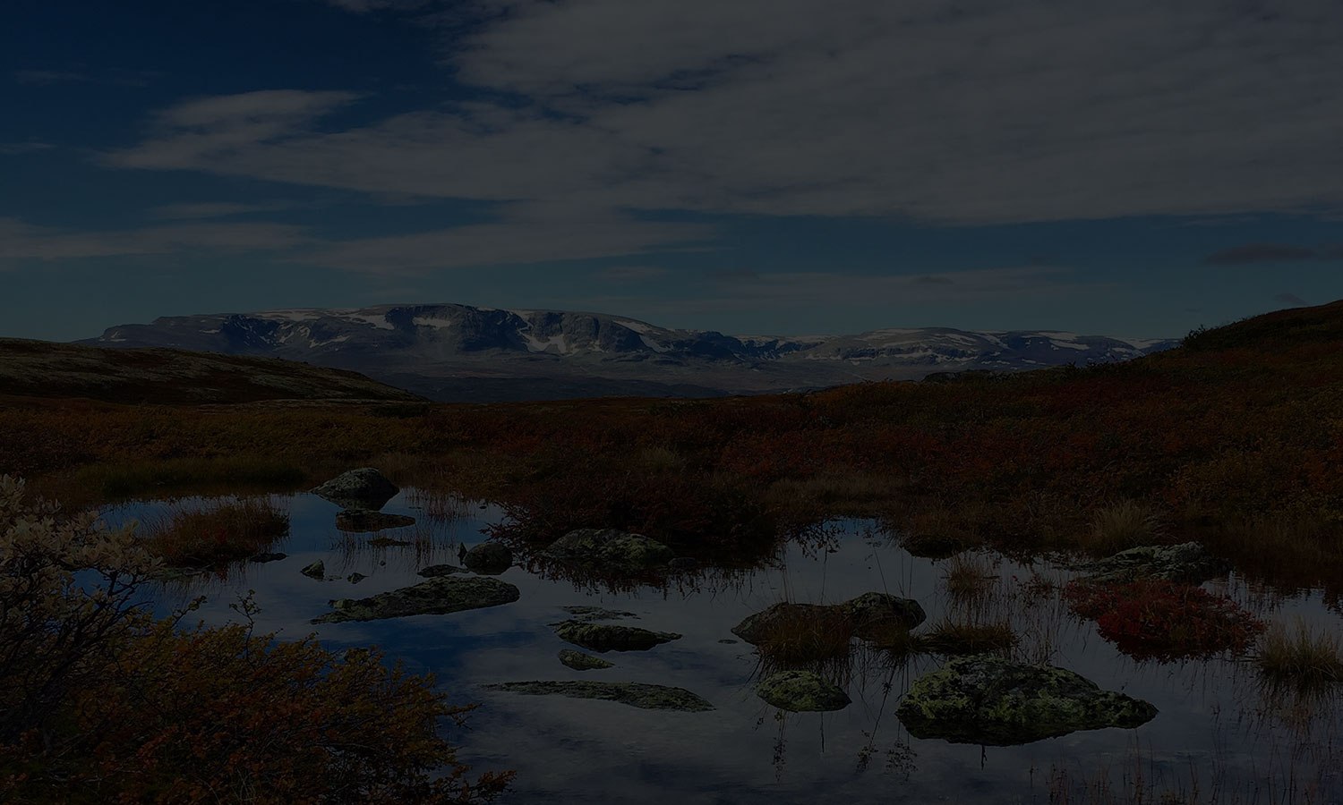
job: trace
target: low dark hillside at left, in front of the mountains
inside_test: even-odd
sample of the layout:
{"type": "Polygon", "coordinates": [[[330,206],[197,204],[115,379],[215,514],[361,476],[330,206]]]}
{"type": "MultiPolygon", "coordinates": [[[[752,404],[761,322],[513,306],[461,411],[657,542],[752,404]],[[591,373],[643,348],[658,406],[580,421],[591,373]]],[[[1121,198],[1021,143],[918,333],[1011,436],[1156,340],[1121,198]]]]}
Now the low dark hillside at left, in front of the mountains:
{"type": "Polygon", "coordinates": [[[0,338],[0,394],[106,402],[422,400],[355,372],[179,349],[117,350],[0,338]]]}

